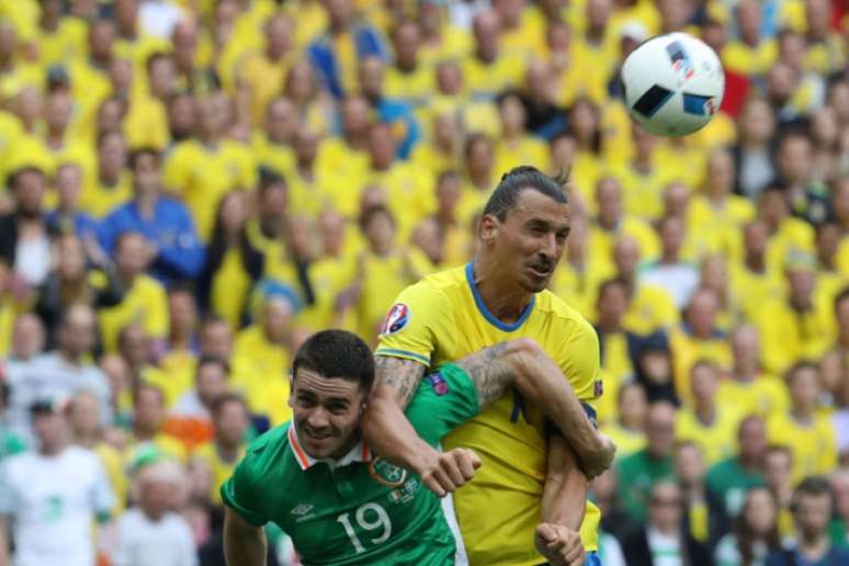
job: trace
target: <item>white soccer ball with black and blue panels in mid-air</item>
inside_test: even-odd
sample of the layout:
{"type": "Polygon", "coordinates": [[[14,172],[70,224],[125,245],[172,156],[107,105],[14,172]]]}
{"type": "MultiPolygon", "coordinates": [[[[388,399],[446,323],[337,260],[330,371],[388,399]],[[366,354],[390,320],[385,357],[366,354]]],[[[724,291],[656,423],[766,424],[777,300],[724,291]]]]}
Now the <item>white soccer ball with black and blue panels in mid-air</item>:
{"type": "Polygon", "coordinates": [[[722,104],[725,73],[716,53],[686,33],[653,37],[622,65],[631,116],[659,136],[704,127],[722,104]]]}

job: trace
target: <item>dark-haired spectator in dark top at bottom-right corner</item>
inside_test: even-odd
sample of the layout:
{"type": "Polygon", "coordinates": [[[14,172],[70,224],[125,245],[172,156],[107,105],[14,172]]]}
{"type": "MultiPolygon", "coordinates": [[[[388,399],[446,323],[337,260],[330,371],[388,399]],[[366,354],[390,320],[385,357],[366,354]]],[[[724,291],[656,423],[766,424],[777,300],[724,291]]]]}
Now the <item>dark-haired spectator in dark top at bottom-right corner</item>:
{"type": "Polygon", "coordinates": [[[849,550],[835,545],[828,535],[835,498],[826,479],[805,478],[793,493],[791,507],[795,536],[767,558],[767,566],[849,564],[849,550]]]}

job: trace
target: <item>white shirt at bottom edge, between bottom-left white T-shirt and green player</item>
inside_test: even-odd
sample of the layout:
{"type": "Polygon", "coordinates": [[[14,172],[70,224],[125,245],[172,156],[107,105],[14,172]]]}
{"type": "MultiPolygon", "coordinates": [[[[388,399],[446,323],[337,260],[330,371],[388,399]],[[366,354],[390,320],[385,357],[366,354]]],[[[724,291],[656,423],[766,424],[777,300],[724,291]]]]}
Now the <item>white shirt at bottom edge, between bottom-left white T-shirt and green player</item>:
{"type": "Polygon", "coordinates": [[[189,523],[168,512],[152,521],[140,509],[129,509],[117,524],[113,566],[196,566],[197,553],[189,523]]]}

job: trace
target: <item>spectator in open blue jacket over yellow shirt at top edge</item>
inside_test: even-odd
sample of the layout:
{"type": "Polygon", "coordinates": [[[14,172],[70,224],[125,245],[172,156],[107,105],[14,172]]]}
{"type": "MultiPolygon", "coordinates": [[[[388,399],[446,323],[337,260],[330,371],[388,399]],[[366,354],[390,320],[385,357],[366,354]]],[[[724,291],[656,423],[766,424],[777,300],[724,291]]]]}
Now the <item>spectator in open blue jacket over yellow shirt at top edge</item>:
{"type": "Polygon", "coordinates": [[[364,58],[386,58],[383,38],[358,18],[352,0],[326,3],[328,26],[308,47],[307,54],[330,93],[342,99],[356,91],[356,67],[364,58]]]}

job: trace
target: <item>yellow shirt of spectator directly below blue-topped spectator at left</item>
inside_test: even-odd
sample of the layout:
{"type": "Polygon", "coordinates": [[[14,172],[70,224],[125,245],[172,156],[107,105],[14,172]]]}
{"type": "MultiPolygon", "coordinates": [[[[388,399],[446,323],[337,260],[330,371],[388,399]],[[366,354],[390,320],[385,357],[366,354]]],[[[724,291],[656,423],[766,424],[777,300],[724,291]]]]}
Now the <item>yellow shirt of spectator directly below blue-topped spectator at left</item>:
{"type": "Polygon", "coordinates": [[[168,336],[168,297],[161,283],[149,275],[138,275],[124,294],[124,299],[100,310],[100,332],[103,349],[116,352],[121,330],[137,322],[149,338],[168,336]]]}

